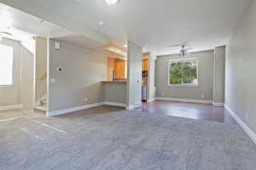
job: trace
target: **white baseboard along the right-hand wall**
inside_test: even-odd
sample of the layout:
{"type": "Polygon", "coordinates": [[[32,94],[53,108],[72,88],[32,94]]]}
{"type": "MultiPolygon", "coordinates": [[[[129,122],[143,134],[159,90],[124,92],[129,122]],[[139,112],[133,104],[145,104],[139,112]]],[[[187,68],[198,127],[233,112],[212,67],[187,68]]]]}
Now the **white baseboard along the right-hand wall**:
{"type": "Polygon", "coordinates": [[[237,116],[236,113],[232,111],[228,105],[224,105],[224,107],[227,111],[229,111],[230,115],[235,119],[243,131],[247,133],[248,137],[253,140],[254,144],[256,144],[256,133],[254,133],[245,122],[241,121],[240,117],[237,116]]]}

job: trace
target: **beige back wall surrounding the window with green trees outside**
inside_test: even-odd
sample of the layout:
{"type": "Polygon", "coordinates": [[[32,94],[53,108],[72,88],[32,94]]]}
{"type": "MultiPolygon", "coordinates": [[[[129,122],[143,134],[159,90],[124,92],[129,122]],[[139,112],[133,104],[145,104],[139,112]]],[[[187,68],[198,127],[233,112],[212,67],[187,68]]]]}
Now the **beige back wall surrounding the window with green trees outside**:
{"type": "Polygon", "coordinates": [[[177,99],[213,99],[213,59],[214,51],[193,53],[190,57],[198,58],[198,87],[174,87],[168,85],[168,62],[178,59],[178,55],[159,56],[156,62],[156,96],[158,98],[177,99]],[[204,95],[204,98],[201,96],[204,95]]]}

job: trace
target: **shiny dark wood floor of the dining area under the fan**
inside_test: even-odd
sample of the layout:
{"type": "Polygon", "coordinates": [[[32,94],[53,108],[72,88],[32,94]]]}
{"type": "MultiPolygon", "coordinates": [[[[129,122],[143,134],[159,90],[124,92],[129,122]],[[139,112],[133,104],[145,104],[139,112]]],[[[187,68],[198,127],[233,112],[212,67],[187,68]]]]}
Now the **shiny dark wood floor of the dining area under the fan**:
{"type": "Polygon", "coordinates": [[[143,102],[143,107],[138,108],[137,111],[236,124],[235,120],[230,116],[228,111],[224,109],[224,107],[213,107],[212,105],[154,101],[150,103],[143,102]]]}

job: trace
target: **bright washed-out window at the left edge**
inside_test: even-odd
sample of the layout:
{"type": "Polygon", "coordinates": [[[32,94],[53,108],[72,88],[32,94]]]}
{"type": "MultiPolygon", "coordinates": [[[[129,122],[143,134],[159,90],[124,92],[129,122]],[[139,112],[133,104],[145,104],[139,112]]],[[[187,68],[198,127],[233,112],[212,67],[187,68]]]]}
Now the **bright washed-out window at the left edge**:
{"type": "Polygon", "coordinates": [[[13,48],[0,44],[0,86],[13,84],[13,48]]]}

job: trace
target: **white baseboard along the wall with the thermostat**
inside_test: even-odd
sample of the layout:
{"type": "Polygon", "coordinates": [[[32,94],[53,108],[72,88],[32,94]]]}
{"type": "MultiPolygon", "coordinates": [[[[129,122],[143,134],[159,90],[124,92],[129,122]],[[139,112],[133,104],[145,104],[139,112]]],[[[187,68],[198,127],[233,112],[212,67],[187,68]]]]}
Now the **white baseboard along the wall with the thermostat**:
{"type": "Polygon", "coordinates": [[[60,116],[60,115],[64,115],[67,113],[74,112],[74,111],[82,111],[84,109],[89,109],[92,107],[100,106],[103,104],[104,104],[104,102],[96,103],[96,104],[89,104],[89,105],[79,105],[76,107],[67,108],[67,109],[63,109],[63,110],[57,110],[57,111],[47,111],[46,116],[60,116]]]}

